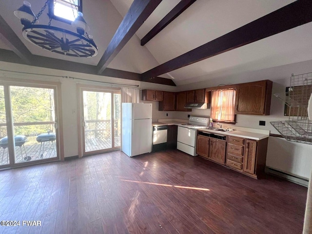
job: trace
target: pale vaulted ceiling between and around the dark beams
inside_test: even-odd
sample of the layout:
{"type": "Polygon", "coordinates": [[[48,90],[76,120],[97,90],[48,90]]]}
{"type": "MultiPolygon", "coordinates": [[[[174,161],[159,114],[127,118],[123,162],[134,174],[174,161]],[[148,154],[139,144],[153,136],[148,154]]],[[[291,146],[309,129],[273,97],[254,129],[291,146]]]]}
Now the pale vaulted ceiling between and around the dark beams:
{"type": "MultiPolygon", "coordinates": [[[[37,14],[43,5],[43,1],[29,1],[32,4],[34,13],[37,14]]],[[[297,2],[299,1],[308,2],[303,0],[297,2]]],[[[109,62],[107,68],[136,74],[145,73],[294,1],[195,0],[154,38],[141,46],[140,40],[180,2],[181,0],[162,0],[147,20],[141,26],[139,24],[140,27],[134,36],[109,62]]],[[[87,68],[95,72],[97,71],[98,62],[110,44],[123,17],[131,9],[132,3],[133,0],[83,0],[83,15],[90,25],[90,33],[98,45],[98,55],[87,59],[71,58],[51,53],[25,40],[21,35],[22,25],[20,20],[13,14],[13,11],[22,4],[21,0],[1,0],[0,16],[12,28],[16,37],[22,41],[31,54],[40,56],[36,57],[37,59],[47,57],[82,63],[88,65],[87,68]]],[[[308,6],[310,12],[312,12],[311,4],[308,4],[308,6]]],[[[301,10],[292,12],[292,15],[300,18],[302,12],[301,10]]],[[[47,15],[43,14],[39,21],[46,24],[48,22],[47,15]]],[[[55,20],[52,20],[52,25],[70,27],[70,25],[55,20]]],[[[254,31],[256,32],[257,29],[254,31]]],[[[189,63],[190,65],[175,70],[169,68],[167,69],[168,73],[156,74],[156,76],[173,79],[176,85],[182,85],[208,80],[215,77],[216,74],[222,76],[222,74],[228,74],[229,72],[255,71],[311,60],[311,35],[312,22],[309,21],[273,36],[255,40],[243,46],[235,46],[231,50],[216,54],[208,59],[189,63]]],[[[247,32],[246,38],[248,37],[247,32]]],[[[0,40],[0,49],[2,49],[0,53],[4,53],[4,50],[12,50],[11,47],[5,40],[0,40]]],[[[55,68],[58,69],[58,67],[55,68]]],[[[159,82],[163,82],[163,80],[159,82]]]]}

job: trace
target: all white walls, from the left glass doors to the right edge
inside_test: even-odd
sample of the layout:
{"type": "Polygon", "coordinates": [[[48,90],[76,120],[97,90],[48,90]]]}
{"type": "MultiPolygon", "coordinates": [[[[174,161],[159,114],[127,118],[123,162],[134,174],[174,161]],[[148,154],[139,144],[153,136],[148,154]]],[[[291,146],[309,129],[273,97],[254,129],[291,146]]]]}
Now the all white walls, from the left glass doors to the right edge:
{"type": "MultiPolygon", "coordinates": [[[[8,62],[0,62],[0,69],[28,72],[28,73],[39,73],[45,75],[55,76],[70,76],[76,78],[92,79],[104,82],[115,82],[124,84],[137,84],[141,89],[154,89],[164,91],[183,91],[199,89],[203,87],[217,86],[219,83],[234,84],[242,83],[246,81],[256,81],[263,79],[270,79],[273,81],[273,93],[285,92],[285,87],[290,85],[290,76],[292,73],[301,74],[311,72],[312,60],[300,63],[294,63],[290,65],[264,69],[256,72],[234,74],[229,75],[227,78],[216,78],[213,80],[207,80],[205,82],[193,83],[185,86],[168,86],[160,85],[148,82],[139,82],[134,80],[126,80],[119,78],[109,78],[95,75],[87,75],[75,72],[60,71],[54,69],[39,68],[27,65],[20,65],[8,62]]],[[[59,81],[61,82],[62,88],[62,112],[63,112],[63,134],[64,134],[64,154],[65,157],[78,155],[78,120],[77,120],[77,91],[76,84],[79,82],[75,79],[69,78],[57,78],[57,77],[44,77],[44,76],[22,76],[15,73],[8,73],[0,71],[1,76],[8,76],[14,78],[22,78],[27,83],[27,78],[59,81]],[[76,136],[76,137],[73,137],[76,136]]],[[[40,81],[39,81],[40,82],[40,81]]],[[[96,82],[87,82],[87,84],[101,85],[96,82]]],[[[153,104],[153,121],[157,121],[159,118],[181,118],[188,119],[187,115],[199,115],[209,116],[210,110],[196,110],[192,112],[162,112],[158,111],[158,102],[156,101],[144,101],[153,104]],[[166,116],[168,114],[168,117],[166,116]]],[[[258,129],[271,130],[272,133],[277,134],[277,131],[271,126],[270,121],[285,120],[287,117],[283,116],[284,104],[277,98],[272,97],[271,115],[270,116],[250,116],[250,115],[238,115],[236,126],[251,127],[258,129]],[[259,126],[259,120],[265,120],[266,126],[259,126]]],[[[312,164],[312,145],[306,145],[301,143],[294,143],[286,141],[282,138],[269,137],[268,155],[267,155],[267,166],[275,168],[280,171],[291,173],[296,176],[302,176],[308,178],[311,172],[312,164]]]]}

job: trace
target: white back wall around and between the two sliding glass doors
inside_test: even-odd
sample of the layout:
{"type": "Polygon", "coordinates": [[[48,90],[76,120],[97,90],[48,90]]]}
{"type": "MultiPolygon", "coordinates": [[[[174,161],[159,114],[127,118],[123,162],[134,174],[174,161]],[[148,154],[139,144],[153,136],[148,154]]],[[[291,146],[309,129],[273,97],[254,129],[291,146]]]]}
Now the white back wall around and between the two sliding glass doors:
{"type": "MultiPolygon", "coordinates": [[[[83,79],[91,79],[103,82],[134,84],[142,86],[143,88],[159,89],[173,91],[176,87],[170,87],[167,85],[150,84],[147,82],[139,82],[135,80],[127,80],[120,78],[110,78],[103,76],[95,76],[88,74],[81,74],[76,72],[67,72],[55,69],[47,69],[40,67],[33,67],[15,63],[0,62],[0,79],[1,77],[20,78],[25,83],[27,79],[38,79],[38,83],[41,80],[54,81],[61,83],[61,95],[62,95],[62,113],[63,113],[63,135],[64,135],[64,156],[77,156],[78,155],[78,118],[77,118],[77,83],[85,83],[97,86],[104,86],[104,84],[92,81],[81,81],[72,78],[59,78],[59,77],[47,77],[38,75],[23,75],[14,72],[5,72],[2,70],[24,72],[24,73],[36,73],[53,76],[75,77],[83,79]]],[[[104,86],[107,87],[107,86],[104,86]]],[[[153,119],[163,117],[164,113],[158,112],[158,102],[153,102],[153,119]],[[155,111],[154,111],[155,110],[155,111]]]]}

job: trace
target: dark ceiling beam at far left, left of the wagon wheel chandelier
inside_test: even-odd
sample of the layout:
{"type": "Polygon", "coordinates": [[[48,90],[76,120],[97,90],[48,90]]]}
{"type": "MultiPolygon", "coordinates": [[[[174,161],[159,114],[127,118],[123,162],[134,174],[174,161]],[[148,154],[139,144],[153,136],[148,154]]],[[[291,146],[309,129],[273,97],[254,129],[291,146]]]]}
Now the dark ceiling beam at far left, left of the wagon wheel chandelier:
{"type": "Polygon", "coordinates": [[[0,16],[0,40],[6,44],[26,64],[31,64],[32,53],[14,33],[7,22],[0,16]]]}

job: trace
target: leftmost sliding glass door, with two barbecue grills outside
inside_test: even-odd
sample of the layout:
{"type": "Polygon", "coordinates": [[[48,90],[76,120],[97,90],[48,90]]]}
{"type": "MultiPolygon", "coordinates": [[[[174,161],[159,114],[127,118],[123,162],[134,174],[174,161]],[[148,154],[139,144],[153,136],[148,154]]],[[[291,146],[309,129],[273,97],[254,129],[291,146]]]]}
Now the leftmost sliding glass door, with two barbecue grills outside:
{"type": "Polygon", "coordinates": [[[0,86],[0,168],[59,159],[55,93],[43,85],[0,86]]]}

